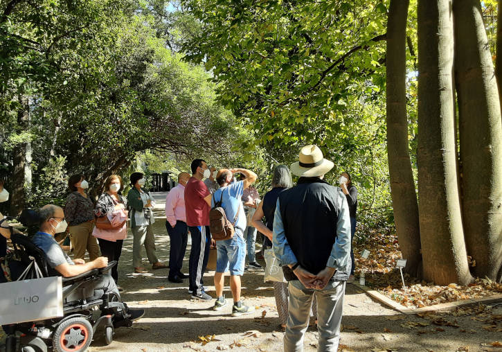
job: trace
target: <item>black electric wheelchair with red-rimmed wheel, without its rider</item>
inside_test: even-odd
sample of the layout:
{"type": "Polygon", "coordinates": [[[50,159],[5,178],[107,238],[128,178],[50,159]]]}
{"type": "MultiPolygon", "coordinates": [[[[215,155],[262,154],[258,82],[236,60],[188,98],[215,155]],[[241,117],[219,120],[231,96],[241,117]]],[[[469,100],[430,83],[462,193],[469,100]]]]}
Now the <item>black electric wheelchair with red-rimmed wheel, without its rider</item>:
{"type": "MultiPolygon", "coordinates": [[[[44,277],[57,276],[57,272],[47,265],[45,253],[28,236],[12,234],[11,241],[13,251],[9,256],[17,261],[18,266],[26,268],[36,261],[44,277]]],[[[94,290],[94,287],[95,282],[116,264],[116,261],[112,261],[102,269],[63,277],[64,316],[2,326],[7,337],[5,345],[0,346],[0,352],[46,352],[51,347],[57,352],[85,351],[100,327],[105,331],[105,343],[111,344],[114,328],[131,326],[132,319],[128,317],[127,305],[116,294],[94,290]]],[[[35,278],[33,272],[25,276],[25,279],[30,278],[35,278]]],[[[17,277],[12,272],[9,279],[14,281],[17,277]]]]}

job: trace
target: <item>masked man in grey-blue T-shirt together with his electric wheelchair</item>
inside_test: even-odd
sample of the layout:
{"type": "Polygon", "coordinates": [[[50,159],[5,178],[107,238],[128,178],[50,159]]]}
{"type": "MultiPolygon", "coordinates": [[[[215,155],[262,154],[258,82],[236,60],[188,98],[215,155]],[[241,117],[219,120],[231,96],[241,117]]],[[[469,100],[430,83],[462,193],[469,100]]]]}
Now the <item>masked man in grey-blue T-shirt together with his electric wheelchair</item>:
{"type": "Polygon", "coordinates": [[[12,234],[12,245],[18,252],[22,247],[25,256],[35,258],[44,276],[63,276],[64,317],[3,326],[8,334],[5,351],[45,352],[46,342],[51,344],[51,340],[55,351],[85,351],[99,326],[105,327],[105,342],[110,344],[114,328],[131,326],[145,313],[128,308],[120,299],[109,272],[116,262],[108,263],[106,257],[89,263],[72,261],[54,238],[67,226],[60,206],[42,207],[37,221],[39,231],[31,240],[12,234]]]}

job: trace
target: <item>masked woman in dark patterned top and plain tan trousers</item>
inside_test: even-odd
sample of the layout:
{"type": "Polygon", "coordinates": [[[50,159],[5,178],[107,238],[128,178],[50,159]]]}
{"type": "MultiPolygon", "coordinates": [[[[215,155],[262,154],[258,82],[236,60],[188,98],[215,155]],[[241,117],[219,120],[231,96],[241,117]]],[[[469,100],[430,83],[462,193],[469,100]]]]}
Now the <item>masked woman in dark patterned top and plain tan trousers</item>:
{"type": "Polygon", "coordinates": [[[94,206],[85,190],[89,184],[84,175],[73,175],[68,181],[71,193],[64,206],[64,218],[69,225],[74,258],[84,259],[85,251],[93,261],[100,256],[98,241],[92,236],[94,229],[94,206]]]}

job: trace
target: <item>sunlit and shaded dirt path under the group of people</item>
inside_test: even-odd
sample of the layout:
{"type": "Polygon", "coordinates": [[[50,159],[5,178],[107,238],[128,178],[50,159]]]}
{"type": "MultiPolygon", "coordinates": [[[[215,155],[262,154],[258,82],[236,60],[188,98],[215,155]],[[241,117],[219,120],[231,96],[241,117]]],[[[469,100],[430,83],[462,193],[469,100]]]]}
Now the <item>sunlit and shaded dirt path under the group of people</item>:
{"type": "MultiPolygon", "coordinates": [[[[157,255],[168,263],[169,236],[165,230],[163,202],[165,193],[156,195],[157,255]]],[[[189,242],[190,245],[190,242],[189,242]]],[[[257,249],[258,250],[258,249],[257,249]]],[[[183,272],[188,272],[187,248],[183,272]]],[[[145,255],[145,254],[144,254],[145,255]]],[[[145,259],[144,259],[145,260],[145,259]]],[[[265,265],[263,261],[260,261],[265,265]]],[[[145,266],[150,267],[145,263],[145,266]]],[[[118,267],[119,284],[125,288],[123,299],[129,306],[146,310],[145,317],[131,328],[118,328],[114,342],[105,346],[102,332],[97,331],[89,351],[282,351],[283,333],[278,331],[274,290],[263,283],[263,270],[245,272],[242,277],[244,301],[257,307],[256,313],[231,317],[226,310],[212,310],[214,301],[190,299],[188,279],[174,284],[167,279],[168,269],[150,270],[147,274],[132,273],[132,236],[125,240],[118,267]],[[262,318],[265,311],[265,317],[262,318]],[[215,335],[204,346],[199,337],[215,335]]],[[[204,274],[208,294],[215,296],[213,271],[204,274]]],[[[228,285],[228,279],[226,279],[228,285]]],[[[227,297],[231,297],[228,286],[227,297]]],[[[343,351],[502,351],[493,344],[502,342],[502,302],[492,303],[484,313],[466,310],[465,315],[444,315],[443,324],[417,315],[401,315],[370,299],[355,285],[348,284],[343,304],[343,351]],[[470,313],[469,313],[470,312],[470,313]],[[498,319],[487,323],[487,317],[498,319]],[[447,326],[446,322],[452,322],[447,326]],[[497,325],[498,324],[498,325],[497,325]],[[491,328],[487,328],[491,326],[491,328]],[[491,331],[489,331],[491,330],[491,331]]],[[[456,313],[458,315],[458,312],[456,313]]],[[[316,328],[305,334],[304,351],[316,351],[316,328]]]]}

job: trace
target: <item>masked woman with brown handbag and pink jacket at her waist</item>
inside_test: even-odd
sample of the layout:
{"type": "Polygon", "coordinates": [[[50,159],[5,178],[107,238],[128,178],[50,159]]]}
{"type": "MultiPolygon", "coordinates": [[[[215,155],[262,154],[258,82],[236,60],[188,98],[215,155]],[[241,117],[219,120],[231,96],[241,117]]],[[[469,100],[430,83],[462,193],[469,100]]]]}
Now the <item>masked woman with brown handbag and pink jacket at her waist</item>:
{"type": "MultiPolygon", "coordinates": [[[[98,218],[102,218],[103,216],[110,217],[116,211],[123,211],[123,213],[127,214],[127,210],[125,210],[126,200],[120,194],[122,189],[122,177],[119,175],[110,175],[107,178],[105,192],[100,195],[96,203],[96,210],[94,211],[94,214],[98,218]]],[[[111,269],[111,277],[118,283],[118,259],[122,253],[124,239],[127,237],[127,223],[124,223],[118,229],[103,230],[96,227],[93,231],[93,236],[98,238],[101,254],[106,256],[108,261],[117,261],[117,265],[111,269]]],[[[118,290],[122,291],[123,289],[119,286],[118,290]]]]}

